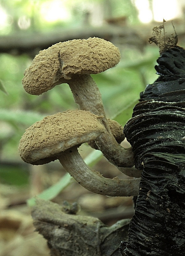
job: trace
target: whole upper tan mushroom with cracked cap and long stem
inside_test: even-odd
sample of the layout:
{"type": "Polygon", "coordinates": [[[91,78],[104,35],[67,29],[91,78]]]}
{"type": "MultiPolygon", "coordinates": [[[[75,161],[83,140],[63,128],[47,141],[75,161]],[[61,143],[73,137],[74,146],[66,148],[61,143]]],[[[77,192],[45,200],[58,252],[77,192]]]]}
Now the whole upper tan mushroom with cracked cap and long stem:
{"type": "Polygon", "coordinates": [[[119,49],[104,39],[94,37],[56,43],[35,56],[24,73],[23,86],[28,93],[39,95],[55,85],[67,83],[79,109],[103,116],[101,122],[106,131],[95,139],[99,150],[115,166],[133,167],[132,149],[121,147],[114,138],[101,93],[90,76],[112,68],[119,60],[119,49]]]}

